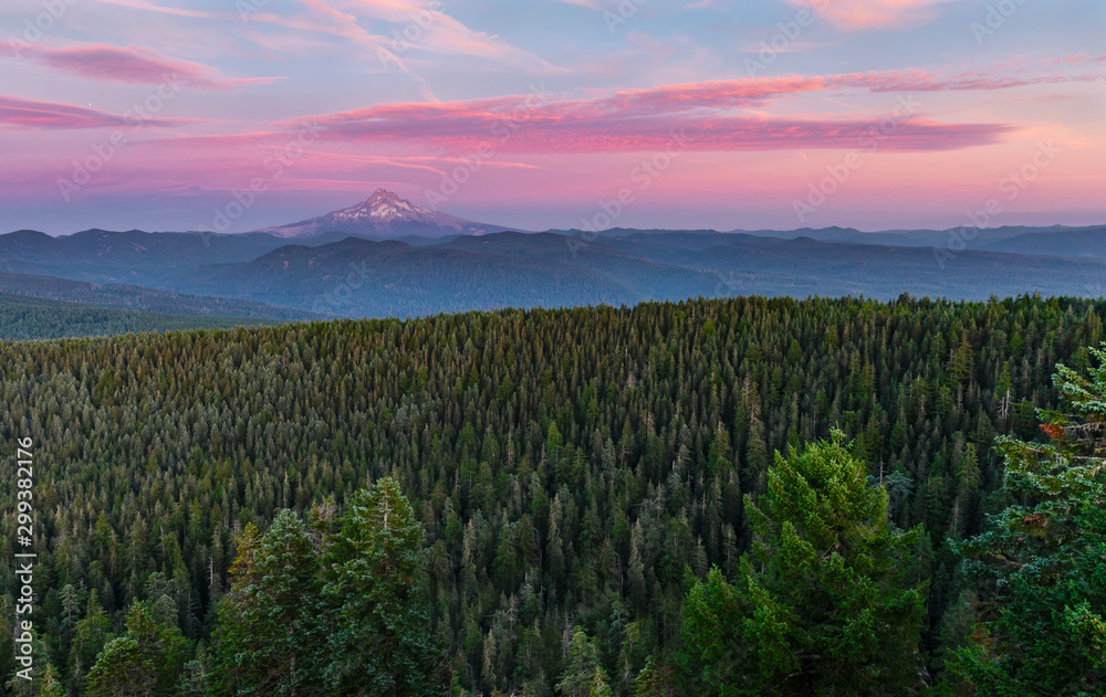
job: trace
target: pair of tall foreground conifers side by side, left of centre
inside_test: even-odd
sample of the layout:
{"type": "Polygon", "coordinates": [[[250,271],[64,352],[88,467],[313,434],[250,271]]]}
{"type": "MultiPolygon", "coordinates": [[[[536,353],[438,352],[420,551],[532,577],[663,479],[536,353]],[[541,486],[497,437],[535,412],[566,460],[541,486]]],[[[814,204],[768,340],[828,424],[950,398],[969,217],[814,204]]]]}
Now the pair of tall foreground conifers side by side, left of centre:
{"type": "Polygon", "coordinates": [[[289,509],[239,538],[216,631],[219,694],[441,695],[422,528],[399,485],[356,492],[335,530],[327,518],[313,510],[317,543],[289,509]]]}

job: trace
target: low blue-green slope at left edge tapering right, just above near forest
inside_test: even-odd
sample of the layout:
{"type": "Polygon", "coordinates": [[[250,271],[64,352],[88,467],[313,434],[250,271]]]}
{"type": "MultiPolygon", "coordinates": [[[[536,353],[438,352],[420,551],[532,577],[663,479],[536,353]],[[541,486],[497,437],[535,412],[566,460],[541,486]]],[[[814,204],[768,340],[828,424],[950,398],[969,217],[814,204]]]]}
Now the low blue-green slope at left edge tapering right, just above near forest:
{"type": "Polygon", "coordinates": [[[0,340],[4,341],[276,324],[273,319],[158,315],[0,293],[0,340]]]}

